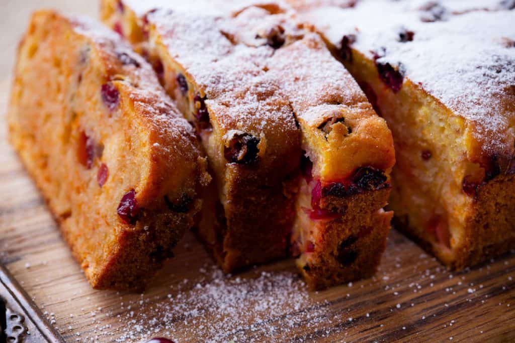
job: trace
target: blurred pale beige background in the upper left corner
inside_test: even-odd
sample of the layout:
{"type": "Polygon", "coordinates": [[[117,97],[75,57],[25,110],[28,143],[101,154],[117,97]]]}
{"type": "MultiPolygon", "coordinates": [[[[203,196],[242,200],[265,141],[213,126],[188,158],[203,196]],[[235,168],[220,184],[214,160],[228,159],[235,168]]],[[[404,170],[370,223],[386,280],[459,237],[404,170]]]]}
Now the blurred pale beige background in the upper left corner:
{"type": "Polygon", "coordinates": [[[32,11],[54,8],[65,14],[98,18],[98,6],[96,0],[0,0],[0,82],[10,80],[16,47],[32,11]]]}

